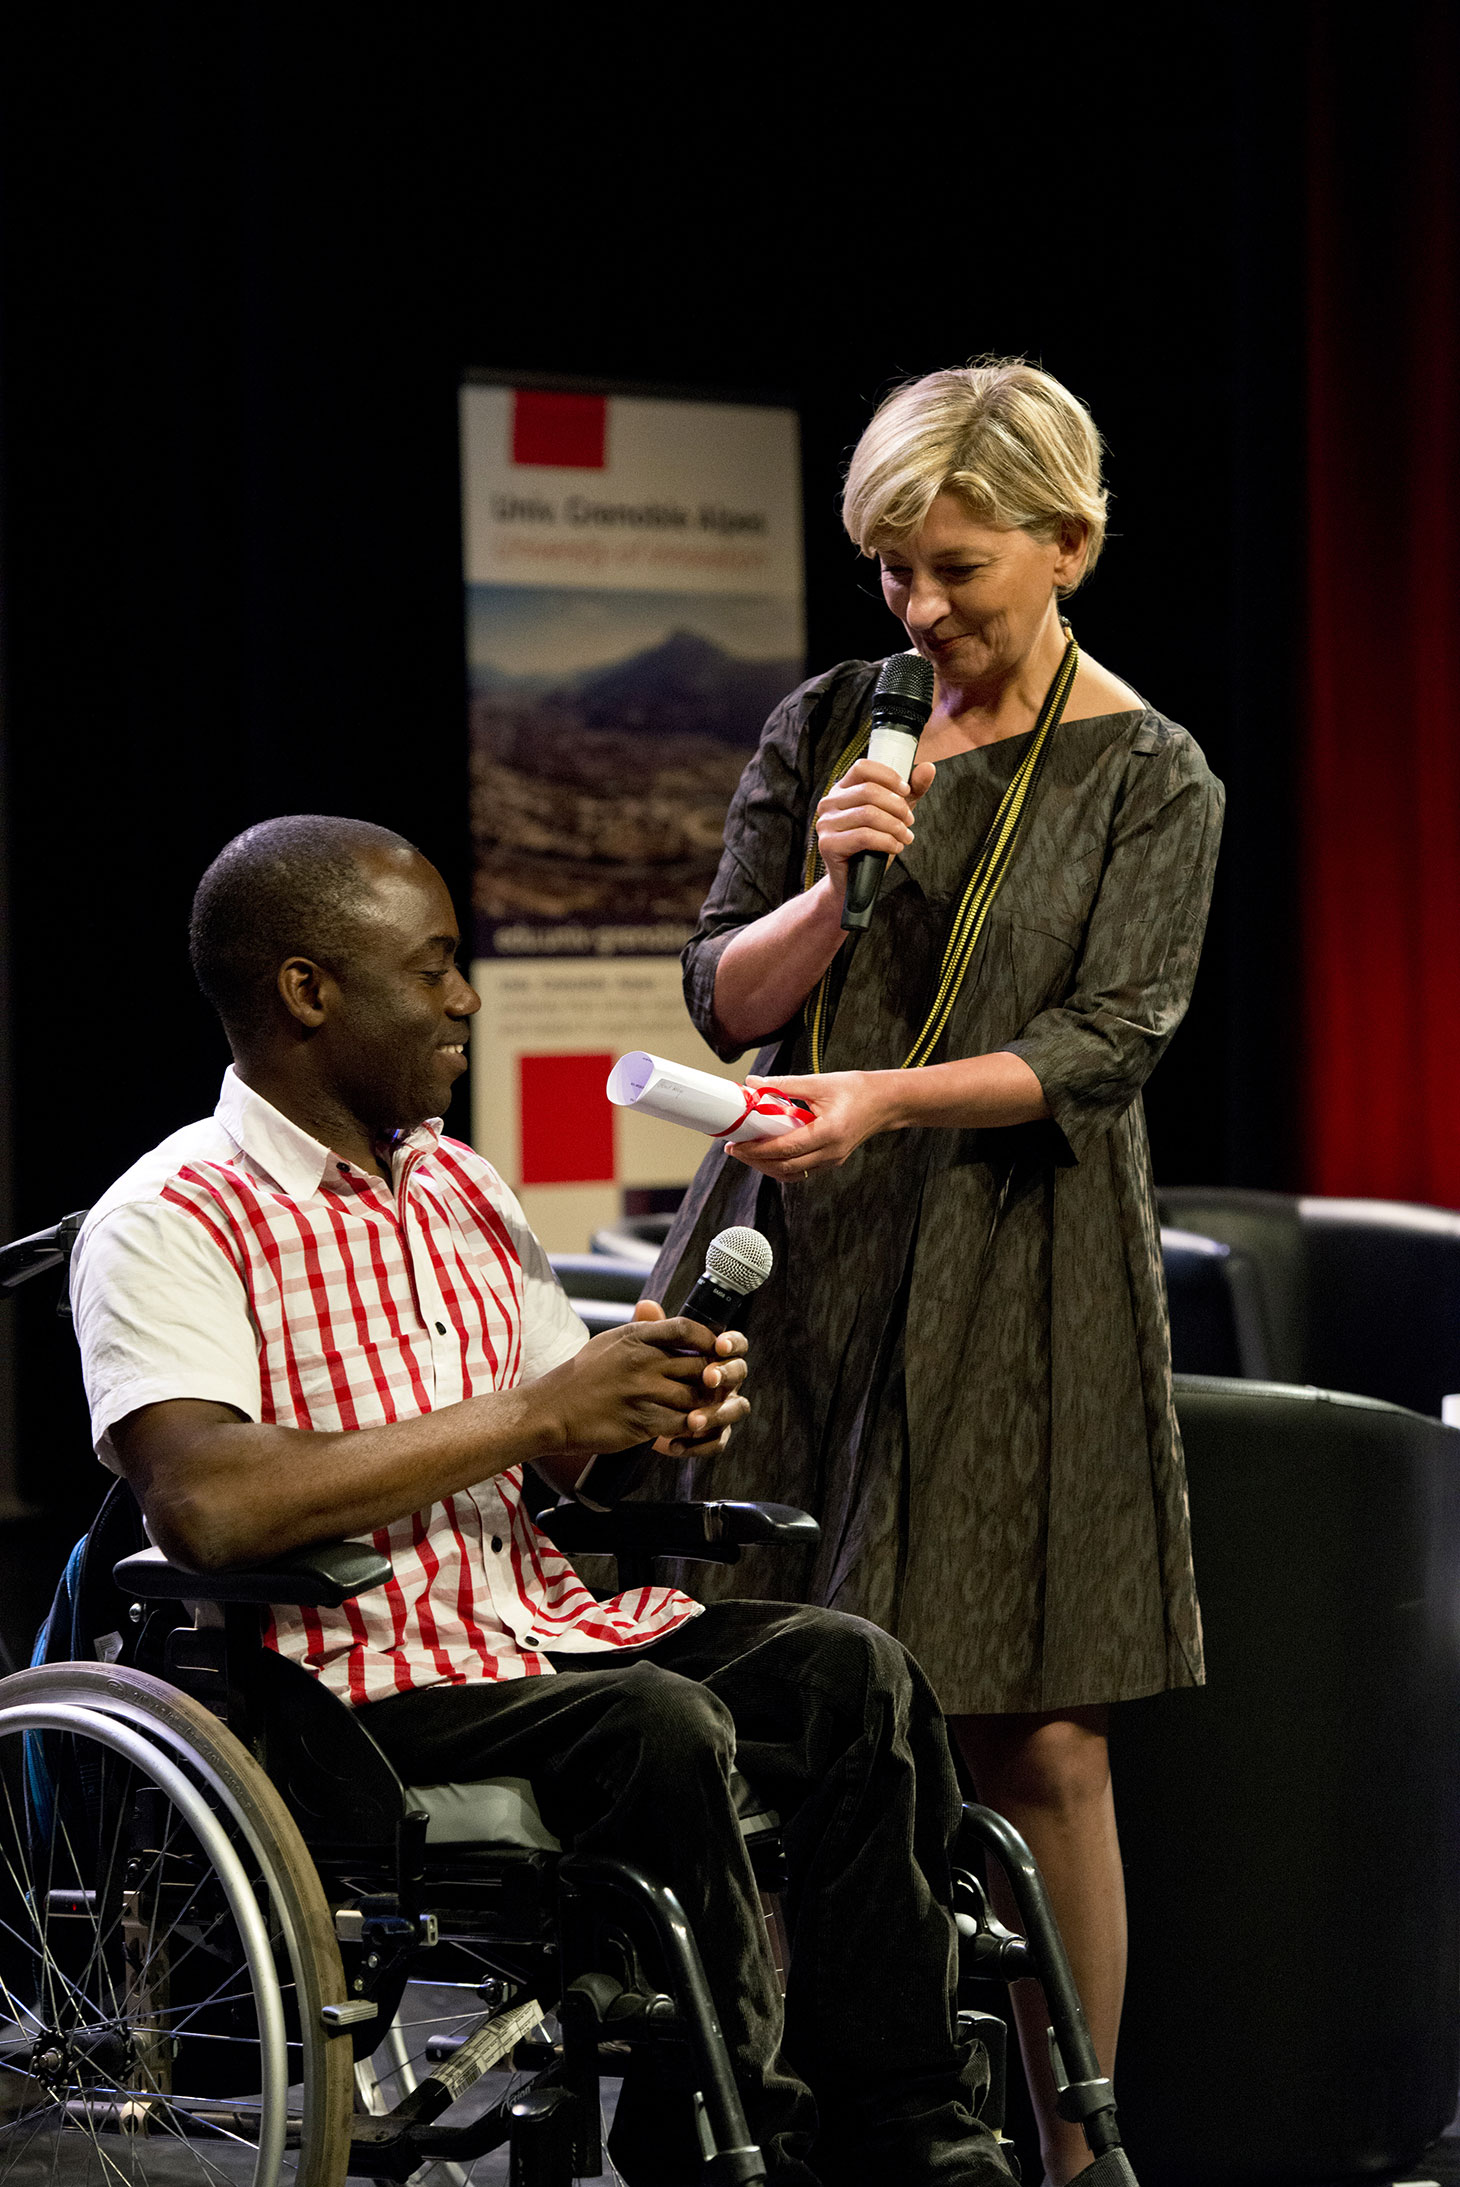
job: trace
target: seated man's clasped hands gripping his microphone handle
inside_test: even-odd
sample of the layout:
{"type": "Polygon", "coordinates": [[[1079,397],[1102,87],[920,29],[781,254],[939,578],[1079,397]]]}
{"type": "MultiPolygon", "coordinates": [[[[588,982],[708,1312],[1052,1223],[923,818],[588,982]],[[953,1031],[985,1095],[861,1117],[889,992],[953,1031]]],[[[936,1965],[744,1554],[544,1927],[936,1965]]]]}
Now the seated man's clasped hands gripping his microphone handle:
{"type": "Polygon", "coordinates": [[[590,1459],[649,1441],[671,1457],[710,1457],[750,1413],[743,1380],[743,1336],[667,1321],[662,1306],[640,1299],[632,1321],[592,1336],[533,1382],[531,1397],[553,1417],[555,1457],[590,1459]]]}

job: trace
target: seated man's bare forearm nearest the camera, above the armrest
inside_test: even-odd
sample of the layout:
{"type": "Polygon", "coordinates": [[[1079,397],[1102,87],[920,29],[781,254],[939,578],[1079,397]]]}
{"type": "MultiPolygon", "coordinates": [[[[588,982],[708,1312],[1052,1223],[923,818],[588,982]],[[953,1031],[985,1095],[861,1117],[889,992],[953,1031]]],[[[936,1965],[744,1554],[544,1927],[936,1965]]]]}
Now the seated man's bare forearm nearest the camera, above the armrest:
{"type": "MultiPolygon", "coordinates": [[[[343,1430],[258,1426],[184,1400],[144,1406],[118,1437],[157,1546],[192,1570],[372,1533],[553,1448],[531,1384],[343,1430]]],[[[573,1463],[581,1472],[586,1459],[573,1463]]]]}

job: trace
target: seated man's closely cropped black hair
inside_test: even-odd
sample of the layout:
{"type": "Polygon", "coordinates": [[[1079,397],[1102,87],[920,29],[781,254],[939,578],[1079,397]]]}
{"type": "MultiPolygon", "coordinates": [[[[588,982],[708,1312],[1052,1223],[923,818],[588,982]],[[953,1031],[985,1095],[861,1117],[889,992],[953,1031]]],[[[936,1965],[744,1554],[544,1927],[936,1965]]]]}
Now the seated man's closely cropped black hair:
{"type": "Polygon", "coordinates": [[[227,1032],[269,1019],[284,958],[339,964],[369,897],[363,855],[413,851],[369,820],[284,814],[223,844],[192,899],[192,971],[227,1032]]]}

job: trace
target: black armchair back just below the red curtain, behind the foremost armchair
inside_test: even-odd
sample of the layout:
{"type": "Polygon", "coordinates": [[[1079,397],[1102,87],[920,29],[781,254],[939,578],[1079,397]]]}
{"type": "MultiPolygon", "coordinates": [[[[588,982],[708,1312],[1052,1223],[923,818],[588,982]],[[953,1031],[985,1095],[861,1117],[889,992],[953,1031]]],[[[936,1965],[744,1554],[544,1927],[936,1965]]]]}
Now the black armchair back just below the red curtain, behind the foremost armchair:
{"type": "Polygon", "coordinates": [[[1460,1214],[1196,1185],[1158,1201],[1248,1258],[1279,1380],[1432,1415],[1460,1391],[1460,1214]]]}

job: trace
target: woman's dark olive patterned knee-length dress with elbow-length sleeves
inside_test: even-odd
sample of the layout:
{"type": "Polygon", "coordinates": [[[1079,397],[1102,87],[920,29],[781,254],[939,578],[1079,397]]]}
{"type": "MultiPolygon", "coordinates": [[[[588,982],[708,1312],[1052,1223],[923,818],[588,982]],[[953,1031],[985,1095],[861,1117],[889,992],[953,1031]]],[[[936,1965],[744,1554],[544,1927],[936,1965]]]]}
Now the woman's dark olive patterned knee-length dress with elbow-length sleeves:
{"type": "MultiPolygon", "coordinates": [[[[684,954],[721,1056],[737,1054],[713,1015],[721,951],[800,890],[815,800],[879,665],[793,691],[741,779],[684,954]]],[[[844,973],[828,1072],[900,1067],[1025,748],[938,763],[844,973]]],[[[673,1312],[728,1223],[754,1223],[776,1268],[747,1319],[752,1417],[684,1489],[802,1505],[822,1544],[688,1566],[697,1594],[874,1618],[953,1715],[1200,1684],[1141,1085],[1191,997],[1220,827],[1222,785],[1187,730],[1152,711],[1062,724],[933,1059],[1023,1056],[1053,1120],[881,1133],[804,1185],[710,1148],[649,1295],[673,1312]]],[[[809,1069],[800,1015],[756,1069],[809,1069]]]]}

